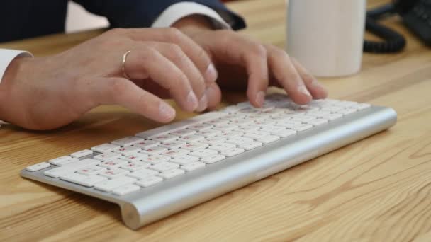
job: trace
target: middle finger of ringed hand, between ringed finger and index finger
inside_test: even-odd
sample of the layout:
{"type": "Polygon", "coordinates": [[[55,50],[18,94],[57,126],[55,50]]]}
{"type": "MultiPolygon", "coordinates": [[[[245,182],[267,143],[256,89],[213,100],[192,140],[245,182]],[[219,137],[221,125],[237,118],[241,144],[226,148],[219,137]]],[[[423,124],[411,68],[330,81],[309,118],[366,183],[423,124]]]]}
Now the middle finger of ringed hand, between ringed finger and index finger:
{"type": "Polygon", "coordinates": [[[201,71],[196,67],[194,62],[183,52],[181,47],[164,42],[143,42],[159,51],[164,57],[167,57],[172,63],[183,71],[190,81],[196,97],[198,98],[198,108],[196,111],[201,112],[208,106],[208,97],[206,96],[206,82],[201,71]]]}

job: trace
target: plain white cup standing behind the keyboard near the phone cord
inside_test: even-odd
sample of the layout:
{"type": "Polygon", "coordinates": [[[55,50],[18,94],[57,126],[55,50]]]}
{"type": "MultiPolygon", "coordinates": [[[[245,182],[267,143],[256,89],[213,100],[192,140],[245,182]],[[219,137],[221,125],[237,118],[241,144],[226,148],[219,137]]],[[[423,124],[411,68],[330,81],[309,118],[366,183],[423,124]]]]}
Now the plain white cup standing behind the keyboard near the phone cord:
{"type": "Polygon", "coordinates": [[[360,71],[366,0],[289,0],[286,50],[315,76],[360,71]]]}

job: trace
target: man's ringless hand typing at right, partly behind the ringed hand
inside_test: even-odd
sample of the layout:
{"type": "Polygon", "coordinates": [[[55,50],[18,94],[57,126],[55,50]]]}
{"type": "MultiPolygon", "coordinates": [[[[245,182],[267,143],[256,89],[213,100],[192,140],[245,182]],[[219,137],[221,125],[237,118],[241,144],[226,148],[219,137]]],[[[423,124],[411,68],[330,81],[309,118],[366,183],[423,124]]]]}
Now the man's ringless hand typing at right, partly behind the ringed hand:
{"type": "MultiPolygon", "coordinates": [[[[284,88],[298,104],[328,96],[317,79],[278,47],[262,45],[232,30],[211,30],[211,25],[201,16],[183,18],[174,27],[208,52],[217,67],[221,88],[247,86],[247,97],[256,107],[263,104],[268,86],[284,88]]],[[[211,108],[220,102],[220,88],[215,83],[210,87],[207,93],[211,108]]]]}

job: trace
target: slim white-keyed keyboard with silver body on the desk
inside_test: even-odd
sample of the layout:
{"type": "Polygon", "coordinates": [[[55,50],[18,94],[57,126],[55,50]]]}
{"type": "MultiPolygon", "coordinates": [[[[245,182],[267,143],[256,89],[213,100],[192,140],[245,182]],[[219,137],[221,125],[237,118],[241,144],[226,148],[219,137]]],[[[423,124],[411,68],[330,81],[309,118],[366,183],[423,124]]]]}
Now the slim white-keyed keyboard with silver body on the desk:
{"type": "Polygon", "coordinates": [[[120,204],[132,229],[391,127],[391,108],[267,96],[28,166],[26,178],[120,204]]]}

